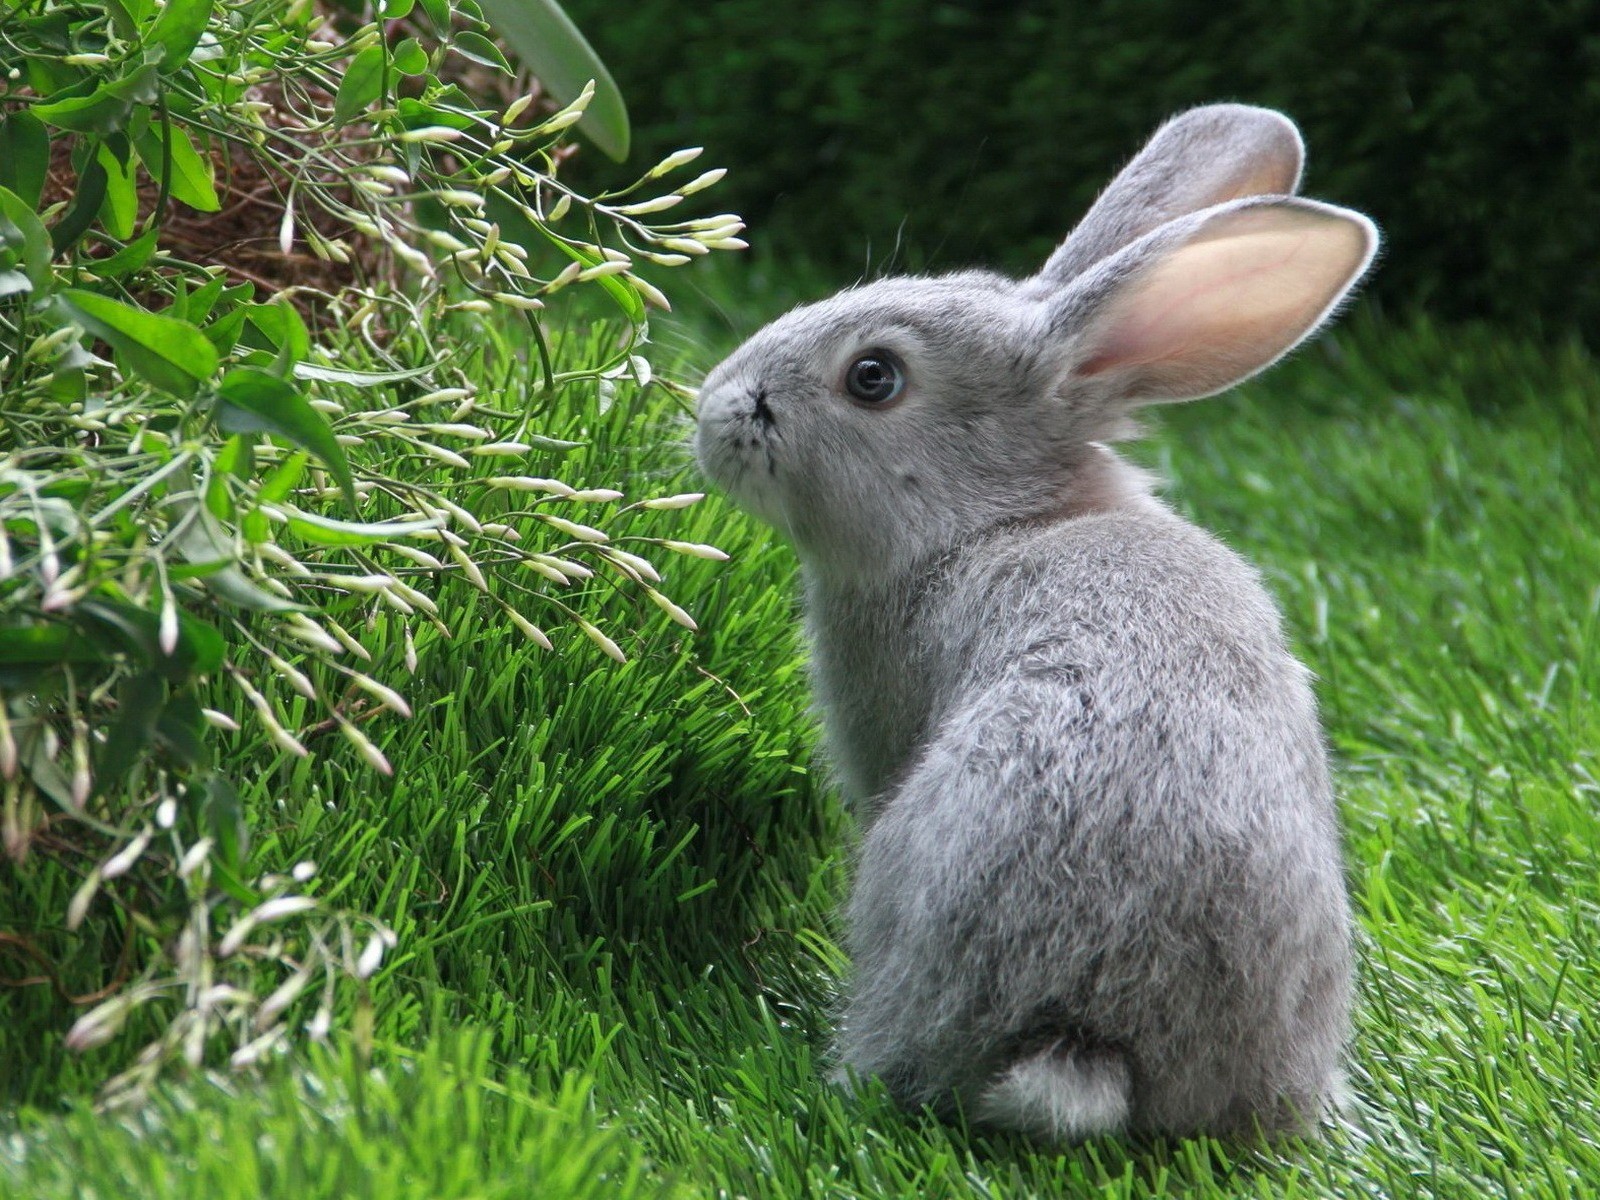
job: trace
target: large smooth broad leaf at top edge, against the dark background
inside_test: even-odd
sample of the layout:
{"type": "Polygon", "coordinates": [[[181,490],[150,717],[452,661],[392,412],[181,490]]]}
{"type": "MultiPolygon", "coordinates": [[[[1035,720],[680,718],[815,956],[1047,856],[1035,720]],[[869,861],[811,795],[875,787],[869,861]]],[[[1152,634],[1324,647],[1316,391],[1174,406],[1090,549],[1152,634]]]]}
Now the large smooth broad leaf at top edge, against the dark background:
{"type": "Polygon", "coordinates": [[[630,141],[622,93],[562,6],[555,0],[483,0],[483,11],[506,45],[562,104],[576,99],[589,80],[595,82],[594,99],[578,130],[608,158],[622,162],[630,141]]]}

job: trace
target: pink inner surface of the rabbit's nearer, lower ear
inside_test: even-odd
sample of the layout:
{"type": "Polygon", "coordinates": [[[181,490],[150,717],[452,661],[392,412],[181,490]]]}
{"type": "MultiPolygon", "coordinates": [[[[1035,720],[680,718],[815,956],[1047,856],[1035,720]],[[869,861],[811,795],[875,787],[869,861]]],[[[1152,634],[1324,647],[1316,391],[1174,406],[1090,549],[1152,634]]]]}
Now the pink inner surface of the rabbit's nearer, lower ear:
{"type": "Polygon", "coordinates": [[[1339,210],[1224,213],[1123,286],[1078,374],[1126,371],[1150,400],[1221,390],[1310,333],[1370,253],[1370,227],[1339,210]]]}

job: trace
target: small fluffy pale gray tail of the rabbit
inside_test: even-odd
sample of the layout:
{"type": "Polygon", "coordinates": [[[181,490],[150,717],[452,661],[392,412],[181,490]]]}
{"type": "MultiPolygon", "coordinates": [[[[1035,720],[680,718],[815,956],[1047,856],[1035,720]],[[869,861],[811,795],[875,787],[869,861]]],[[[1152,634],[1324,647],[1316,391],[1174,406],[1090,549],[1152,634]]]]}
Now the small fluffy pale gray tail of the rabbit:
{"type": "Polygon", "coordinates": [[[1128,1125],[1133,1077],[1107,1050],[1058,1043],[1018,1059],[978,1098],[982,1125],[1042,1141],[1082,1141],[1128,1125]]]}

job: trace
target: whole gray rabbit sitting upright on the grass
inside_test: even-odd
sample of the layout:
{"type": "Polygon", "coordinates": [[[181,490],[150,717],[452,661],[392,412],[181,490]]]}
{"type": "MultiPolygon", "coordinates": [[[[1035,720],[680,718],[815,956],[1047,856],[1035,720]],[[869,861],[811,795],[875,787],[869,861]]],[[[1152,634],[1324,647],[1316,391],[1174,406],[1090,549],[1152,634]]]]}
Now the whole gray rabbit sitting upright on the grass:
{"type": "Polygon", "coordinates": [[[1350,917],[1307,670],[1254,570],[1106,443],[1315,331],[1373,224],[1237,104],[1168,122],[1032,278],[800,307],[696,454],[786,533],[862,822],[842,1077],[1040,1138],[1307,1130],[1350,917]]]}

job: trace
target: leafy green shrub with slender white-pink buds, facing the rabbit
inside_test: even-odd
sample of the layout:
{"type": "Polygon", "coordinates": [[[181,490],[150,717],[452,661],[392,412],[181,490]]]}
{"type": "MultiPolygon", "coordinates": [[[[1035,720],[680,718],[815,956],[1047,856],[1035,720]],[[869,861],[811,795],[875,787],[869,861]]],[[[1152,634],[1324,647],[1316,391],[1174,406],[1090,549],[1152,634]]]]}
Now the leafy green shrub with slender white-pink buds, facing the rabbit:
{"type": "Polygon", "coordinates": [[[616,488],[515,472],[550,445],[542,406],[650,382],[666,299],[645,264],[739,248],[741,224],[658,216],[720,176],[656,195],[693,150],[610,192],[566,182],[565,131],[621,152],[621,104],[554,5],[486,6],[560,51],[546,74],[576,94],[512,88],[472,0],[365,24],[310,3],[0,11],[0,834],[38,904],[0,952],[35,968],[6,982],[66,994],[74,931],[125,947],[67,1038],[165,1014],[114,1093],[208,1046],[243,1066],[325,1034],[344,978],[360,1016],[394,942],[318,899],[314,864],[253,859],[208,728],[256,722],[288,758],[341,736],[389,771],[370,730],[410,706],[363,643],[403,643],[414,670],[413,630],[448,635],[438,597],[462,590],[544,648],[562,622],[624,656],[558,595],[573,581],[693,627],[646,555],[715,552],[638,518],[696,496],[616,509],[616,488]],[[550,334],[547,302],[595,318],[582,293],[616,336],[550,334]],[[494,394],[523,357],[541,386],[494,394]]]}

